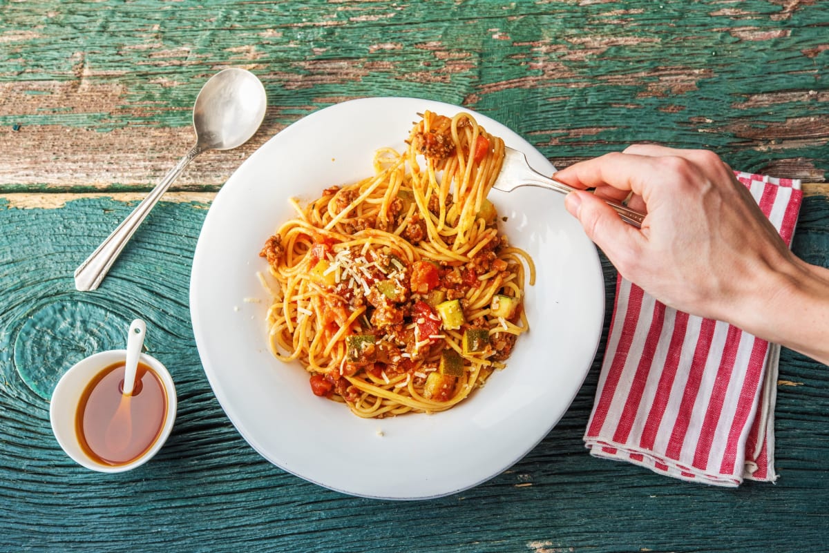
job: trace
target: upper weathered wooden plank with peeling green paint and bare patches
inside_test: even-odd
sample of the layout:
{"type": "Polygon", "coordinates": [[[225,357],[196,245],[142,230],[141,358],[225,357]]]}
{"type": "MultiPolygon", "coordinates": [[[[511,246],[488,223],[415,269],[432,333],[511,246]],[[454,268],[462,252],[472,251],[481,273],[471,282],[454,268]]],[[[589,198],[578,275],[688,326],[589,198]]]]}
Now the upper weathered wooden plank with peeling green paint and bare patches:
{"type": "MultiPolygon", "coordinates": [[[[337,101],[409,95],[481,110],[562,163],[656,141],[826,180],[827,2],[2,7],[0,190],[147,190],[189,146],[193,100],[226,65],[264,81],[261,140],[337,101]]],[[[204,163],[222,171],[174,190],[216,190],[235,158],[204,163]]]]}

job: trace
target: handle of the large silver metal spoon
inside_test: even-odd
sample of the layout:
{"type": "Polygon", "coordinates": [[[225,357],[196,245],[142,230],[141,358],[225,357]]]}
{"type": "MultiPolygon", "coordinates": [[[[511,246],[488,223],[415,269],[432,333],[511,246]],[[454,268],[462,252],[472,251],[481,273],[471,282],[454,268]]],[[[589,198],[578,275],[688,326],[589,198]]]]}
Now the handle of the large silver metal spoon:
{"type": "Polygon", "coordinates": [[[201,144],[196,144],[187,154],[182,157],[180,161],[173,167],[170,172],[162,179],[158,185],[150,190],[150,193],[138,204],[131,214],[128,214],[126,219],[115,228],[101,245],[92,252],[90,257],[87,257],[85,262],[75,269],[75,288],[80,291],[91,291],[97,288],[101,281],[104,280],[109,267],[118,258],[121,250],[132,238],[133,233],[138,228],[144,219],[147,218],[150,210],[158,203],[164,192],[172,185],[172,183],[182,174],[184,168],[192,161],[192,159],[206,148],[201,144]]]}

